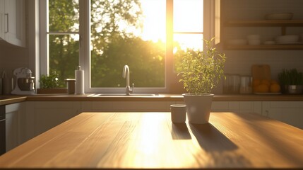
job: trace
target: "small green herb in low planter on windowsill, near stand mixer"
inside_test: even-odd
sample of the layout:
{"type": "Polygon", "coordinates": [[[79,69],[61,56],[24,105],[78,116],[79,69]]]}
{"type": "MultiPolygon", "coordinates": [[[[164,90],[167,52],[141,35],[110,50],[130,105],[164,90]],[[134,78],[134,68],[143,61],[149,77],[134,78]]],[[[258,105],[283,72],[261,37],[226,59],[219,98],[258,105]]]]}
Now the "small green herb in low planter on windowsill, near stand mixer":
{"type": "Polygon", "coordinates": [[[59,74],[52,72],[49,75],[40,77],[40,89],[37,89],[37,94],[66,94],[66,88],[59,88],[59,74]]]}

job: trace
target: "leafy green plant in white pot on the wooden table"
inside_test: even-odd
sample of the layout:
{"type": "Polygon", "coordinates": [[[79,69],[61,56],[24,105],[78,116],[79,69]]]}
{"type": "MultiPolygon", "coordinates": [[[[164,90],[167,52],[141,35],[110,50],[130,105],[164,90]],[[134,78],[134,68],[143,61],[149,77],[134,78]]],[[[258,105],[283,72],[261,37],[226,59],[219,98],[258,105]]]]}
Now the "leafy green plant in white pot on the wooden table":
{"type": "Polygon", "coordinates": [[[214,94],[211,90],[224,77],[225,54],[213,47],[211,40],[203,40],[203,51],[188,50],[178,68],[188,94],[184,96],[189,123],[208,123],[214,94]]]}

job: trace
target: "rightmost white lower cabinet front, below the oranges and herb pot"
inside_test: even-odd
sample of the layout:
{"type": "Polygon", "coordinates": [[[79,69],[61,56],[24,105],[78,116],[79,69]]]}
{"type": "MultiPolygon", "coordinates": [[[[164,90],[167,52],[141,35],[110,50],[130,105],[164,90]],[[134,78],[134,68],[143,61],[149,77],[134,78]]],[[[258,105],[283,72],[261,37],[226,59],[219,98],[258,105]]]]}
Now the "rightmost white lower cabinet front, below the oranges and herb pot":
{"type": "Polygon", "coordinates": [[[303,129],[303,101],[263,101],[262,115],[303,129]]]}

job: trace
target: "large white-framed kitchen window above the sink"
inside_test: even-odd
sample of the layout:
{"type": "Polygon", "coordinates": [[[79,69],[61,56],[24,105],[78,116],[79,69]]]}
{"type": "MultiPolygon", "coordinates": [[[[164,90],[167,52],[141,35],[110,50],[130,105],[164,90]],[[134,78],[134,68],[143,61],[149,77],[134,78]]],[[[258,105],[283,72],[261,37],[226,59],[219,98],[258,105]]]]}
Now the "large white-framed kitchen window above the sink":
{"type": "Polygon", "coordinates": [[[135,92],[168,92],[182,52],[203,48],[203,0],[45,0],[40,8],[41,73],[57,72],[65,86],[81,65],[85,93],[124,92],[125,64],[135,92]]]}

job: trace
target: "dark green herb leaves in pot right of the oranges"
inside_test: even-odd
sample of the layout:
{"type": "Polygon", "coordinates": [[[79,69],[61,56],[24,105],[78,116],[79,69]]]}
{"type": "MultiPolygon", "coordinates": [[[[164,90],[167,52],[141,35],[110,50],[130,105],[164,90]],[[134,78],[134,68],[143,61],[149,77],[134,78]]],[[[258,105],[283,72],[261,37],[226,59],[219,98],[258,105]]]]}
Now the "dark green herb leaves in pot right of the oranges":
{"type": "Polygon", "coordinates": [[[281,85],[303,85],[303,74],[297,69],[283,69],[278,74],[278,79],[281,85]]]}

